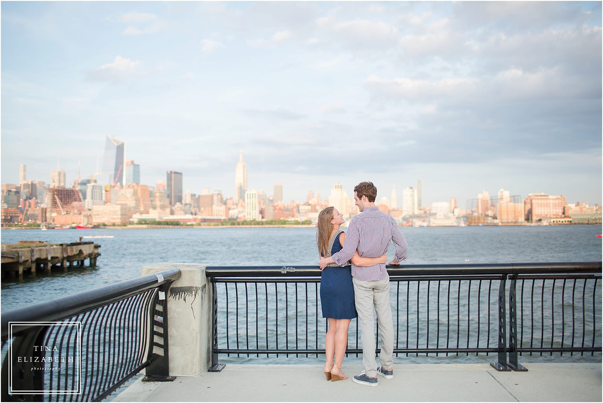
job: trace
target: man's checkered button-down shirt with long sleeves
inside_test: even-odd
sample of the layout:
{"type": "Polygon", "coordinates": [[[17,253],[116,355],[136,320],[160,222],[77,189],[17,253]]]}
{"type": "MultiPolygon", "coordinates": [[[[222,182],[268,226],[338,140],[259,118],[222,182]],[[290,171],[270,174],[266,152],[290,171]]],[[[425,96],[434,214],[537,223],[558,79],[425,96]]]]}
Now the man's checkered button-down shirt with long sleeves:
{"type": "MultiPolygon", "coordinates": [[[[394,259],[397,262],[405,260],[408,243],[396,220],[377,207],[365,207],[350,221],[343,249],[332,258],[340,266],[346,265],[356,250],[363,258],[379,258],[387,252],[391,241],[396,244],[394,259]]],[[[352,276],[362,281],[376,281],[387,276],[387,270],[383,263],[370,267],[352,264],[352,276]]]]}

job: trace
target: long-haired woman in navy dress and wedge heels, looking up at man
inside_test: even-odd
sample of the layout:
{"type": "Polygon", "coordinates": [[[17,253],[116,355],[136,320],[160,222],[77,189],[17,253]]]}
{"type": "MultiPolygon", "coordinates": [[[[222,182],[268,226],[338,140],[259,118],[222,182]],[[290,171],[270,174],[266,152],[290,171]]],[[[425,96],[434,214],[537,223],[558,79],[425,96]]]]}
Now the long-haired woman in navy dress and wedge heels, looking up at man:
{"type": "MultiPolygon", "coordinates": [[[[334,207],[327,207],[318,214],[316,243],[321,257],[328,258],[343,248],[346,233],[339,230],[343,223],[343,214],[334,207]]],[[[385,262],[385,255],[380,258],[361,258],[358,251],[352,258],[352,263],[361,267],[385,262]]],[[[320,277],[320,302],[323,317],[329,321],[329,330],[324,341],[327,357],[324,373],[327,381],[341,381],[347,379],[347,375],[341,370],[343,356],[346,354],[347,328],[350,321],[356,317],[354,285],[349,263],[344,267],[333,263],[324,268],[320,277]]]]}

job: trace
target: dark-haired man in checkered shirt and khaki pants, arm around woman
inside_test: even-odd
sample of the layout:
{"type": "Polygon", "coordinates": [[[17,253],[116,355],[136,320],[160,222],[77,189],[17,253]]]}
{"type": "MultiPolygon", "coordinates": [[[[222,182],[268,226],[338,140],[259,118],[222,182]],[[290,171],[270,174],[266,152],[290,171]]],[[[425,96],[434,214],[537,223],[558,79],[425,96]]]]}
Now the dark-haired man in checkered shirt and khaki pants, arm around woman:
{"type": "MultiPolygon", "coordinates": [[[[360,214],[352,218],[347,229],[343,249],[330,258],[320,259],[320,268],[335,262],[343,266],[352,259],[356,250],[365,258],[384,255],[391,241],[396,244],[396,256],[390,264],[400,264],[406,259],[408,244],[393,217],[375,206],[377,188],[371,182],[361,182],[354,188],[354,200],[360,214]]],[[[361,329],[362,364],[364,371],[352,379],[357,384],[378,386],[377,373],[384,378],[394,377],[392,354],[394,350],[394,324],[391,320],[390,276],[385,264],[358,267],[352,264],[356,311],[361,329]],[[375,361],[373,306],[377,313],[381,333],[380,366],[375,361]]]]}

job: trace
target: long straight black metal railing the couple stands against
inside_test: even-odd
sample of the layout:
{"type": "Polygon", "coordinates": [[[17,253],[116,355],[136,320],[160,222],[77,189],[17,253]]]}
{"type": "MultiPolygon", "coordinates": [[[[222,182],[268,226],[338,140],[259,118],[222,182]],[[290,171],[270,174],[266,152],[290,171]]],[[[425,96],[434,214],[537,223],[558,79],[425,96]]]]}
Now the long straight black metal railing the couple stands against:
{"type": "MultiPolygon", "coordinates": [[[[518,355],[601,352],[601,262],[387,268],[397,357],[496,354],[497,369],[522,370],[518,355]]],[[[223,367],[219,354],[324,354],[320,273],[316,266],[207,267],[213,291],[210,370],[223,367]]],[[[377,353],[377,323],[375,328],[377,353]]],[[[361,352],[354,320],[346,353],[361,352]]]]}

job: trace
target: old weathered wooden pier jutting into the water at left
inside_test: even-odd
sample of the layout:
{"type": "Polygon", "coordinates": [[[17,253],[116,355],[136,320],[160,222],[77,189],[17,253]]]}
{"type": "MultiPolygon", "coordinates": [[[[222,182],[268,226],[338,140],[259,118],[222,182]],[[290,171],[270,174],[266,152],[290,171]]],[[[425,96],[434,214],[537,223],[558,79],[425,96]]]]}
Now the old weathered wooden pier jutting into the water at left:
{"type": "Polygon", "coordinates": [[[96,266],[99,244],[93,242],[74,242],[69,244],[46,244],[46,241],[19,241],[18,244],[2,244],[2,278],[7,274],[11,277],[29,272],[32,277],[36,271],[43,270],[51,274],[52,266],[83,267],[84,260],[90,259],[90,267],[96,266]]]}

